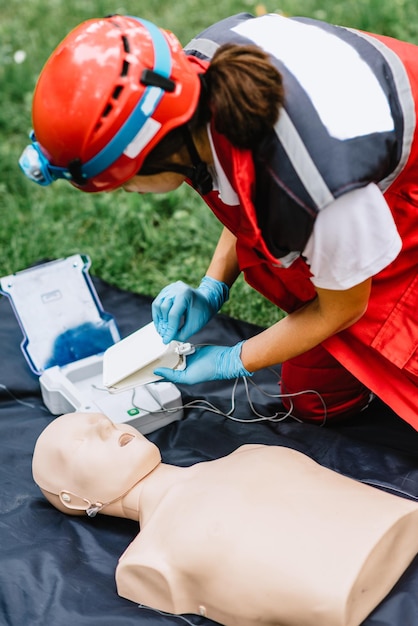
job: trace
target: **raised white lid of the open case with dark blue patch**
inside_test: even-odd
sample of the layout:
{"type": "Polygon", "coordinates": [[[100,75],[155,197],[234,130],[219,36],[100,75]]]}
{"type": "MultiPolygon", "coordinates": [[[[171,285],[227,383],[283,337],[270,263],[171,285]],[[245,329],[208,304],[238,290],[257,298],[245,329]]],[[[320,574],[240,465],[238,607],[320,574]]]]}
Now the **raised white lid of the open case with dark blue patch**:
{"type": "Polygon", "coordinates": [[[104,352],[120,339],[94,288],[90,264],[88,256],[75,254],[0,279],[22,328],[22,352],[37,375],[104,352]]]}

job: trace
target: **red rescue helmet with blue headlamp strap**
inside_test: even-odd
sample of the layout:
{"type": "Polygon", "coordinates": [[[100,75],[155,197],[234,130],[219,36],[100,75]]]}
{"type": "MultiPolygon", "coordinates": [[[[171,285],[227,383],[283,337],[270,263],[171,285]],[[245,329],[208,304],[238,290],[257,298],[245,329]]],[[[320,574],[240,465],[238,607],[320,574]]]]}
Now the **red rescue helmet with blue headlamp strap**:
{"type": "Polygon", "coordinates": [[[40,184],[67,178],[83,191],[118,187],[192,117],[201,72],[177,38],[151,22],[120,15],[83,22],[40,74],[22,169],[40,184]]]}

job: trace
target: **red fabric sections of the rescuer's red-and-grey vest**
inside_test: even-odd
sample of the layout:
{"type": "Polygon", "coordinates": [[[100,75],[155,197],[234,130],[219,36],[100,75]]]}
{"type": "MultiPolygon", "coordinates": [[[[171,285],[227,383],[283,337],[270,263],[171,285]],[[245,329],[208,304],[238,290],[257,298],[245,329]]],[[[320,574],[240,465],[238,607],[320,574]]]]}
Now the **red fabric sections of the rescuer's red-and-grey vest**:
{"type": "MultiPolygon", "coordinates": [[[[373,35],[402,60],[411,83],[418,119],[418,47],[373,35]]],[[[353,326],[323,345],[354,376],[418,430],[418,141],[385,198],[403,248],[397,259],[373,278],[368,310],[353,326]]],[[[226,206],[217,192],[205,201],[237,237],[240,269],[247,282],[287,312],[315,297],[309,267],[298,258],[278,264],[261,236],[253,205],[254,164],[249,151],[233,148],[213,133],[218,158],[236,190],[240,207],[226,206]]]]}

